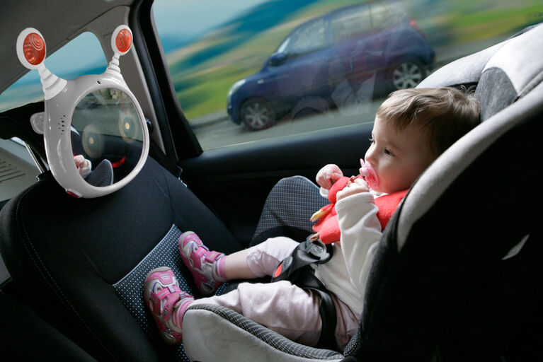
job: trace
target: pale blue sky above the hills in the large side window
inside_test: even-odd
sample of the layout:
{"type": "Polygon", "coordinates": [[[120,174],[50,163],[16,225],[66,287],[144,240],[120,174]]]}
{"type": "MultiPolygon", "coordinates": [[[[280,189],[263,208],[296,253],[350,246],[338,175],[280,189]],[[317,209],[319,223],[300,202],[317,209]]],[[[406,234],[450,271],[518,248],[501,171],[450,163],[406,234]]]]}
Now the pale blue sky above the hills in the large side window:
{"type": "Polygon", "coordinates": [[[156,0],[153,11],[161,34],[192,36],[267,1],[270,0],[156,0]]]}

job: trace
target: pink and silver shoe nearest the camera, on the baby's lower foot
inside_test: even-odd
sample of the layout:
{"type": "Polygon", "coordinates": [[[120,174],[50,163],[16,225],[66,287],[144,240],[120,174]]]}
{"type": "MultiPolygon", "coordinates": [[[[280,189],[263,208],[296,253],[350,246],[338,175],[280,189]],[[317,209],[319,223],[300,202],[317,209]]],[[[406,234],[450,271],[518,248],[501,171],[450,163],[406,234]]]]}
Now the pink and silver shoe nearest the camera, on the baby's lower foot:
{"type": "Polygon", "coordinates": [[[181,291],[175,274],[168,267],[149,271],[143,295],[162,339],[167,344],[180,342],[183,339],[183,315],[193,302],[193,296],[181,291]]]}

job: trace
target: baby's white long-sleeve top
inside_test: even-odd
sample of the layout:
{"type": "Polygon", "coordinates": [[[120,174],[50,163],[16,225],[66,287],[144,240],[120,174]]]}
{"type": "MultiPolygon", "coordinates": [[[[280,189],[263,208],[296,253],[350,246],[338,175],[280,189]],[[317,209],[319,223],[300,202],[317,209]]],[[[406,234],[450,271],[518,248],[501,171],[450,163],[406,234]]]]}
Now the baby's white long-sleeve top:
{"type": "Polygon", "coordinates": [[[374,195],[362,192],[336,202],[336,211],[341,243],[333,244],[333,257],[326,264],[314,264],[315,276],[361,314],[367,276],[382,235],[378,209],[374,195]]]}

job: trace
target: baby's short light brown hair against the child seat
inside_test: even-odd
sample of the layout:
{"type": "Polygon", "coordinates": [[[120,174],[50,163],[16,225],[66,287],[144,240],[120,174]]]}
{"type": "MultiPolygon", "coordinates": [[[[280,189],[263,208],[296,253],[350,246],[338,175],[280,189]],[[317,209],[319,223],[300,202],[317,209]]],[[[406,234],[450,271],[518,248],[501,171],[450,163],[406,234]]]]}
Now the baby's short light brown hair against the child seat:
{"type": "Polygon", "coordinates": [[[479,100],[465,87],[402,89],[384,100],[377,117],[396,130],[421,127],[430,152],[438,157],[479,124],[479,100]]]}

